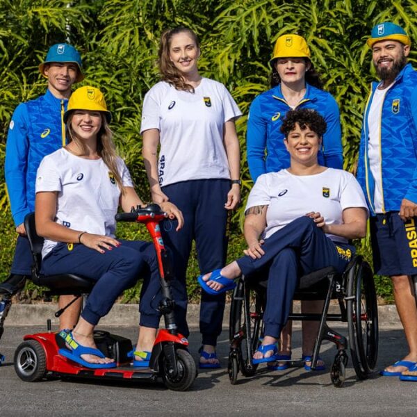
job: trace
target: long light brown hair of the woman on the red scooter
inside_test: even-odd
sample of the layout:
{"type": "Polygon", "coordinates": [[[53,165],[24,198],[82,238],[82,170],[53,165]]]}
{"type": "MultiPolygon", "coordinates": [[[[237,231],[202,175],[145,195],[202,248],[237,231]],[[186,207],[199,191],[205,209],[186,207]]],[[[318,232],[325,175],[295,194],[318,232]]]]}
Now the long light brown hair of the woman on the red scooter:
{"type": "MultiPolygon", "coordinates": [[[[116,147],[112,139],[113,132],[108,126],[108,122],[104,113],[100,112],[100,115],[101,128],[99,133],[97,133],[97,155],[103,159],[104,163],[108,167],[108,170],[110,170],[111,174],[113,174],[120,192],[124,194],[124,186],[119,173],[120,167],[117,163],[118,157],[116,153],[116,147]]],[[[68,138],[68,143],[74,142],[82,150],[82,153],[77,156],[83,156],[88,153],[88,150],[87,147],[85,147],[84,142],[77,138],[76,134],[74,133],[74,129],[72,129],[72,117],[74,117],[73,111],[70,113],[67,119],[66,136],[68,138]]]]}

